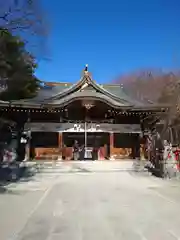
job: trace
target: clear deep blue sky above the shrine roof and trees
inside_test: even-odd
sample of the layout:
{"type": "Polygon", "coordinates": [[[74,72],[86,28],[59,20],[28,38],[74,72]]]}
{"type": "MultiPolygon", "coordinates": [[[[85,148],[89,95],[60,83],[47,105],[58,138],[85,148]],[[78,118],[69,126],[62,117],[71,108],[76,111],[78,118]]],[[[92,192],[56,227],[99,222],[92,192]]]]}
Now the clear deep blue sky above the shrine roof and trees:
{"type": "Polygon", "coordinates": [[[93,78],[112,82],[142,68],[180,67],[179,0],[42,0],[51,31],[50,61],[37,76],[75,82],[86,63],[93,78]]]}

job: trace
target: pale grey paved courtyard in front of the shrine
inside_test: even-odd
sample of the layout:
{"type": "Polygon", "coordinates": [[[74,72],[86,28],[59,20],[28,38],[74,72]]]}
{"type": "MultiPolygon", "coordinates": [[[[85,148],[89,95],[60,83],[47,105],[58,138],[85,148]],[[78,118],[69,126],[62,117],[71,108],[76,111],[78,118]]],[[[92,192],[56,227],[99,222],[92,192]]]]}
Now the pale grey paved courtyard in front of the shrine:
{"type": "Polygon", "coordinates": [[[45,164],[0,192],[1,240],[180,239],[180,182],[132,162],[45,164]]]}

